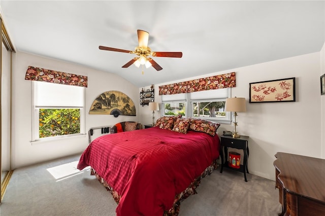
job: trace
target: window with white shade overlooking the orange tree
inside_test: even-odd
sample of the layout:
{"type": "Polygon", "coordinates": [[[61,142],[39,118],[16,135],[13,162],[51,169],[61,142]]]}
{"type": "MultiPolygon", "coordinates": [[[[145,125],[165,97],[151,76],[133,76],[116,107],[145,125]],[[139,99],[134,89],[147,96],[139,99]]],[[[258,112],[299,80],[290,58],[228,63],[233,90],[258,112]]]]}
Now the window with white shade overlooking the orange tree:
{"type": "Polygon", "coordinates": [[[84,134],[83,87],[32,83],[32,140],[84,134]]]}

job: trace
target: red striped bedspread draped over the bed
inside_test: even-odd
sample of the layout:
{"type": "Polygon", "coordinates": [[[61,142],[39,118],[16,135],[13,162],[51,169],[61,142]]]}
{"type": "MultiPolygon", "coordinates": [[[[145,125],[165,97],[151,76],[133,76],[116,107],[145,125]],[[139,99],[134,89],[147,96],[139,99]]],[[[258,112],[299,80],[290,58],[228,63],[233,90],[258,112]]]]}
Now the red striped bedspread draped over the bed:
{"type": "Polygon", "coordinates": [[[219,148],[217,135],[152,127],[96,138],[78,169],[91,166],[121,195],[116,215],[163,215],[219,157],[219,148]]]}

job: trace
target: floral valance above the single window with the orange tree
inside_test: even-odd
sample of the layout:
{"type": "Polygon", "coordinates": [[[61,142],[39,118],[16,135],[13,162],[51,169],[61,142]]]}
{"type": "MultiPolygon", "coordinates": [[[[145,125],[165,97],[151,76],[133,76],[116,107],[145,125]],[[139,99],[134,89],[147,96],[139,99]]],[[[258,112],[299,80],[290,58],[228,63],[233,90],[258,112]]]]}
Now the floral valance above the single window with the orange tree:
{"type": "Polygon", "coordinates": [[[25,80],[87,87],[87,76],[63,73],[60,71],[28,66],[25,80]]]}

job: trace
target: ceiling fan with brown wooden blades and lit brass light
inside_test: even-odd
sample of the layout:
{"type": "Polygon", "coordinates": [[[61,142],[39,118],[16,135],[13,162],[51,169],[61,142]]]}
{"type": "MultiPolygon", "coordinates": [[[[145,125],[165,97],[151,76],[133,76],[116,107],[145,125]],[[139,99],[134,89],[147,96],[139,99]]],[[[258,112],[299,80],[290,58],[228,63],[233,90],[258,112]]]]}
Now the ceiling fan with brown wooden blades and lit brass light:
{"type": "Polygon", "coordinates": [[[161,67],[157,62],[155,62],[152,57],[173,57],[173,58],[181,58],[182,52],[151,52],[151,49],[148,47],[148,40],[149,40],[149,33],[144,30],[138,29],[138,41],[139,46],[135,48],[135,51],[129,51],[129,50],[122,50],[122,49],[116,49],[111,47],[104,47],[99,46],[100,50],[108,50],[108,51],[114,51],[114,52],[122,52],[122,53],[131,53],[136,54],[138,57],[133,58],[131,61],[124,64],[122,67],[129,67],[132,64],[135,64],[137,67],[140,65],[145,65],[146,68],[150,67],[152,65],[153,68],[156,70],[161,70],[163,67],[161,67]]]}

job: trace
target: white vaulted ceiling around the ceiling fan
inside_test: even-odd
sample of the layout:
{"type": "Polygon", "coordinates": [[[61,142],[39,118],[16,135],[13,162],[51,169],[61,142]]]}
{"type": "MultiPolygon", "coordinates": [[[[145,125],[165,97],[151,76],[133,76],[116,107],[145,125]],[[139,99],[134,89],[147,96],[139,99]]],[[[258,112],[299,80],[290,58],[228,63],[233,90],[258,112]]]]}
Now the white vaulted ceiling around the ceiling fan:
{"type": "MultiPolygon", "coordinates": [[[[325,1],[0,1],[16,50],[117,74],[138,87],[319,52],[325,1]],[[122,68],[137,29],[163,67],[122,68]]],[[[37,65],[36,65],[37,66],[37,65]]],[[[48,68],[56,69],[56,68],[48,68]]],[[[66,71],[77,73],[77,71],[66,71]]],[[[263,73],[263,71],[261,71],[263,73]]]]}

